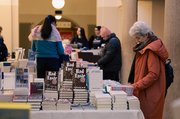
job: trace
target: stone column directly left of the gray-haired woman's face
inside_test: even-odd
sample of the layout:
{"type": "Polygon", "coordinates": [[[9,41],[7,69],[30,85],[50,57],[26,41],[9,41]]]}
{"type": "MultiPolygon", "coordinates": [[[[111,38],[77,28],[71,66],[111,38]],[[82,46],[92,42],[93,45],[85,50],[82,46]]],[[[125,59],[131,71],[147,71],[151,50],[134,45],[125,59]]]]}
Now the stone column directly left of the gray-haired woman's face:
{"type": "Polygon", "coordinates": [[[122,69],[121,79],[127,83],[131,64],[134,58],[133,47],[135,42],[129,36],[129,29],[137,19],[137,0],[122,0],[121,20],[121,45],[122,45],[122,69]]]}

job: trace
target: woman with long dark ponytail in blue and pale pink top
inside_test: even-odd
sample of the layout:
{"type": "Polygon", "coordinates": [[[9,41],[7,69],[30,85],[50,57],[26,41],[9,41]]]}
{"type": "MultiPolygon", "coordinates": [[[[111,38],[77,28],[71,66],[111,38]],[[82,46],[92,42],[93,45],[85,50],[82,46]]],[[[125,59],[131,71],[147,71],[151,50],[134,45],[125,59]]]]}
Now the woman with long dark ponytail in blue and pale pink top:
{"type": "Polygon", "coordinates": [[[48,15],[43,25],[32,29],[29,40],[37,58],[37,77],[45,78],[46,71],[59,71],[60,58],[64,54],[62,39],[56,29],[56,19],[48,15]]]}

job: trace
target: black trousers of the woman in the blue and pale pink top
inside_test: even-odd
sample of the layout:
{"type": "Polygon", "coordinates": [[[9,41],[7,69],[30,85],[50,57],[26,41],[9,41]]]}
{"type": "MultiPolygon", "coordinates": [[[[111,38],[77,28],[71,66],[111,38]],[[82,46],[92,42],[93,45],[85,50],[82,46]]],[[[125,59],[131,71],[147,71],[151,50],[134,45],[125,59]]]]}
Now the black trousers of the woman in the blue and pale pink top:
{"type": "Polygon", "coordinates": [[[45,78],[46,71],[59,71],[58,58],[37,58],[37,78],[45,78]]]}

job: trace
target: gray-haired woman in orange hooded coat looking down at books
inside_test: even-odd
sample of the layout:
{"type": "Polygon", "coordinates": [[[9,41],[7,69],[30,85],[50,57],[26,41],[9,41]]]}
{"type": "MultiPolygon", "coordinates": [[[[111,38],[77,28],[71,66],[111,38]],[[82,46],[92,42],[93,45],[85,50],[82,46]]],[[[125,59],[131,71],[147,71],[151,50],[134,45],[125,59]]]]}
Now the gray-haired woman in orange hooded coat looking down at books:
{"type": "Polygon", "coordinates": [[[162,41],[141,21],[129,30],[136,41],[136,53],[129,82],[140,100],[145,119],[162,119],[165,101],[165,60],[168,52],[162,41]]]}

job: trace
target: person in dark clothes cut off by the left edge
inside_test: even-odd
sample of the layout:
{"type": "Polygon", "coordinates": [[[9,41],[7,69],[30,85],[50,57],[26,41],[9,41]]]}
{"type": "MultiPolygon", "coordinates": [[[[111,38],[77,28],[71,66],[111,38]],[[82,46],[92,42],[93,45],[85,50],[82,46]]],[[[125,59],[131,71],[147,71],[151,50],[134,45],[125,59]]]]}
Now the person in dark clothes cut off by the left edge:
{"type": "Polygon", "coordinates": [[[4,44],[4,39],[1,35],[2,27],[0,26],[0,62],[7,61],[8,57],[8,49],[6,47],[6,44],[4,44]]]}

